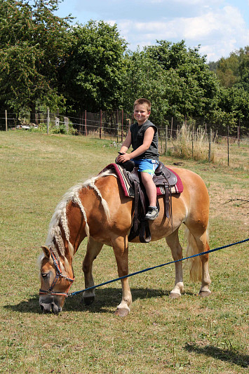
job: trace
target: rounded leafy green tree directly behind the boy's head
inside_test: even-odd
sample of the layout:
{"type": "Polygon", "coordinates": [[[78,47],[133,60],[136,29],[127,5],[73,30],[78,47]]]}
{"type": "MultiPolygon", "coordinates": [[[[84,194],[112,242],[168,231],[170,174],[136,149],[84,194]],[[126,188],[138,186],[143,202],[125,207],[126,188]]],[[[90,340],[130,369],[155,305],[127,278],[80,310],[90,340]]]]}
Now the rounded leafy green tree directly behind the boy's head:
{"type": "Polygon", "coordinates": [[[216,105],[218,82],[198,49],[187,51],[184,41],[158,41],[126,56],[126,95],[151,98],[157,112],[152,117],[160,122],[167,116],[208,116],[216,105]]]}

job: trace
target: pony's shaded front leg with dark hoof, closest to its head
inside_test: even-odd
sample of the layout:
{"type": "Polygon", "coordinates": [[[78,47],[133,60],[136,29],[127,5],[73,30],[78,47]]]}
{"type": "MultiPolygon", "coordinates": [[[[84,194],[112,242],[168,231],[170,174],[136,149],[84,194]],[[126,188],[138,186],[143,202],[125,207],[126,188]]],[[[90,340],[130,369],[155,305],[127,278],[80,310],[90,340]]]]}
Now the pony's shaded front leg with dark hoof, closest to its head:
{"type": "MultiPolygon", "coordinates": [[[[93,238],[90,238],[88,241],[86,255],[83,260],[82,270],[85,277],[85,288],[94,286],[93,281],[93,260],[100,253],[103,244],[94,241],[93,238]]],[[[84,291],[83,301],[86,305],[90,305],[95,300],[95,288],[91,290],[84,291]]]]}

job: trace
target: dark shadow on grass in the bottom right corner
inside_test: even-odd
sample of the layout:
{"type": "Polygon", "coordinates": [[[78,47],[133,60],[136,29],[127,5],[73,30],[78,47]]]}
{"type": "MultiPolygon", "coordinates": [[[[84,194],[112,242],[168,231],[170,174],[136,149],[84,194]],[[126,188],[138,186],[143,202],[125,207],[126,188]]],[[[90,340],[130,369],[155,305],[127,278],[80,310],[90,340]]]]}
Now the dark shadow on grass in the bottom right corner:
{"type": "Polygon", "coordinates": [[[194,352],[197,354],[205,354],[206,356],[212,356],[214,359],[220,359],[229,363],[234,363],[242,368],[247,368],[249,365],[249,356],[247,354],[241,354],[233,349],[221,349],[218,347],[212,347],[206,345],[206,347],[198,347],[196,344],[185,345],[184,349],[188,352],[194,352]]]}

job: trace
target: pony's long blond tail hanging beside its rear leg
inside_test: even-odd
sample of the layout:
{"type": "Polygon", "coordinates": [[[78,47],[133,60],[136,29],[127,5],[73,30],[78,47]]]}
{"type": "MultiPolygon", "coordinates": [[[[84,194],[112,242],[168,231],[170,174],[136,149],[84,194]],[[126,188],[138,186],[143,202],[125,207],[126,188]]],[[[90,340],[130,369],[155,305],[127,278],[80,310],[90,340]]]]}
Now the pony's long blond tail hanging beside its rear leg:
{"type": "MultiPolygon", "coordinates": [[[[196,239],[194,239],[194,235],[191,234],[189,229],[186,227],[185,229],[185,239],[187,239],[187,250],[186,250],[186,257],[197,255],[199,253],[198,247],[196,244],[196,239]]],[[[200,256],[196,256],[194,258],[189,258],[187,260],[187,264],[189,265],[189,274],[191,281],[201,281],[201,258],[200,256]]]]}

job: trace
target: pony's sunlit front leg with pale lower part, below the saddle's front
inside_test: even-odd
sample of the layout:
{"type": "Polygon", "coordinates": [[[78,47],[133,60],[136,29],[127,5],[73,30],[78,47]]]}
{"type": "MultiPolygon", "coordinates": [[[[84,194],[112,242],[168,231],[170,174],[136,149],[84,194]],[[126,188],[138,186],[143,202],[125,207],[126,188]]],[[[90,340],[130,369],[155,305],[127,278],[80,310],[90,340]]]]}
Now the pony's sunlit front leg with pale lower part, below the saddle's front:
{"type": "MultiPolygon", "coordinates": [[[[116,239],[112,239],[112,247],[114,248],[119,276],[128,275],[128,236],[118,236],[116,239]]],[[[128,316],[130,312],[129,306],[132,302],[132,297],[128,278],[121,279],[121,285],[122,300],[116,308],[115,314],[123,317],[128,316]]]]}

